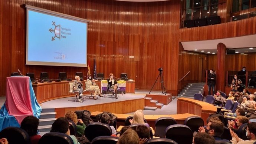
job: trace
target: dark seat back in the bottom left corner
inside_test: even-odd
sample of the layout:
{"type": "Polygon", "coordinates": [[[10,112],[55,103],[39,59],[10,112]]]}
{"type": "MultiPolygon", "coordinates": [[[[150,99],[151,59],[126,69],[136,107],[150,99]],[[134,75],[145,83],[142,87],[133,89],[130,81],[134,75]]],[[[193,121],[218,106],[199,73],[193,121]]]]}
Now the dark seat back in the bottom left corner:
{"type": "Polygon", "coordinates": [[[0,138],[6,138],[9,144],[29,144],[29,134],[19,127],[7,127],[0,132],[0,138]]]}

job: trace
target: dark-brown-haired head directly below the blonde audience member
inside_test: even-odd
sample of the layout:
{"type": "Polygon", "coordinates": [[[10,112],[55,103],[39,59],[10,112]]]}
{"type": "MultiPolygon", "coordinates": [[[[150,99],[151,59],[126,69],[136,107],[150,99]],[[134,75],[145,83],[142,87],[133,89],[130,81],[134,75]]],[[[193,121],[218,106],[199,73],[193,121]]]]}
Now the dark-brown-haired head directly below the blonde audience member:
{"type": "Polygon", "coordinates": [[[140,144],[144,144],[145,141],[150,139],[150,128],[146,125],[138,125],[135,131],[140,138],[140,144]]]}

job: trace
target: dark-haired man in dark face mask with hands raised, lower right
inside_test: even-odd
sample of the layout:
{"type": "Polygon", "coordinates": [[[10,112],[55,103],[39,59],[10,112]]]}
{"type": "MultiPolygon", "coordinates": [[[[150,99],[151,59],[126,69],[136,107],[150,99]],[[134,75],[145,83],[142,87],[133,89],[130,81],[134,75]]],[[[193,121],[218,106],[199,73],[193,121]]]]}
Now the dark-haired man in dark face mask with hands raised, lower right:
{"type": "Polygon", "coordinates": [[[224,124],[218,120],[210,120],[210,122],[207,123],[206,129],[204,127],[199,127],[198,132],[206,132],[213,136],[215,140],[221,140],[221,135],[224,132],[224,124]]]}

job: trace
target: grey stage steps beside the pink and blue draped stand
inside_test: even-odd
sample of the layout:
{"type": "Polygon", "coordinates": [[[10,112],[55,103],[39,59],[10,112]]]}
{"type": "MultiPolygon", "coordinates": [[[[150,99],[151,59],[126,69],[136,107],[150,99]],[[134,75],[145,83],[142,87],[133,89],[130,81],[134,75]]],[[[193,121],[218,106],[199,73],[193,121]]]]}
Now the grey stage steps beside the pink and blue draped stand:
{"type": "Polygon", "coordinates": [[[52,124],[56,119],[55,108],[42,108],[39,117],[39,132],[50,132],[52,124]]]}

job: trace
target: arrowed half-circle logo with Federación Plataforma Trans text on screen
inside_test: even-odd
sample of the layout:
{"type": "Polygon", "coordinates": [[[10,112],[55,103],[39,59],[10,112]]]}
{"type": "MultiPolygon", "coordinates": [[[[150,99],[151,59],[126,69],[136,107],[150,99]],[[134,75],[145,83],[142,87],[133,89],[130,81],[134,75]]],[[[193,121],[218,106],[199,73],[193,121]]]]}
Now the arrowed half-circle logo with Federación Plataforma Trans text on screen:
{"type": "Polygon", "coordinates": [[[60,39],[60,38],[67,38],[67,36],[71,36],[71,29],[66,27],[60,27],[60,24],[56,26],[55,21],[54,22],[52,21],[52,25],[55,26],[54,29],[52,28],[49,29],[51,33],[55,34],[54,37],[52,36],[52,41],[55,40],[55,37],[60,39]]]}

